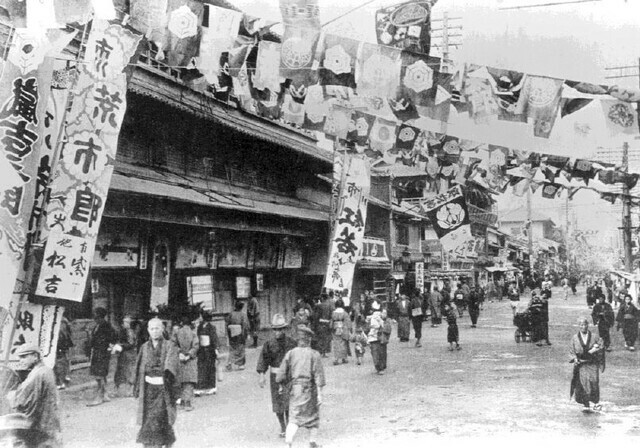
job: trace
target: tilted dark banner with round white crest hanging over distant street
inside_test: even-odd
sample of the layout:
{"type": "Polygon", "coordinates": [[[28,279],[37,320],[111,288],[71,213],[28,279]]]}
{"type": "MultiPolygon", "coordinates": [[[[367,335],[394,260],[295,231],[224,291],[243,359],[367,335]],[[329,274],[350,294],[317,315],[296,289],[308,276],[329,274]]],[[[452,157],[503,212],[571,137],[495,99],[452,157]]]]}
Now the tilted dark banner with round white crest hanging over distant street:
{"type": "Polygon", "coordinates": [[[471,221],[462,188],[456,185],[443,194],[422,201],[422,208],[445,252],[455,251],[472,239],[471,221]]]}

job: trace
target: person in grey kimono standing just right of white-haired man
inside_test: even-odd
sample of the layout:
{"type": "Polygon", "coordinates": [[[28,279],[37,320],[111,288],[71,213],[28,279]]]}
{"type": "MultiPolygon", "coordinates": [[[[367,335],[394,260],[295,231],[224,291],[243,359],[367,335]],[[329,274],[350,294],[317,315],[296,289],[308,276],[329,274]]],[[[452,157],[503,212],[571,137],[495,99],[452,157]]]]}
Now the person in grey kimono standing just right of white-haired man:
{"type": "Polygon", "coordinates": [[[191,319],[182,318],[182,325],[174,335],[174,342],[178,348],[178,383],[182,386],[180,405],[185,411],[193,410],[195,385],[198,382],[198,335],[191,328],[191,319]]]}

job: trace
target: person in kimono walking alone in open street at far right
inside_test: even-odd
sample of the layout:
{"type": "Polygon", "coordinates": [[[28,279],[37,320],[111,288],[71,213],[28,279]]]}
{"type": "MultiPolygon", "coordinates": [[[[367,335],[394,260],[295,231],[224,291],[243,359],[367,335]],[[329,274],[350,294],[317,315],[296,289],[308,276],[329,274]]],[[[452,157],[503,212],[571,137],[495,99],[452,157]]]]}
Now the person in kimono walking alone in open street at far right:
{"type": "Polygon", "coordinates": [[[580,319],[580,331],[571,339],[571,362],[573,378],[570,396],[575,395],[576,402],[585,410],[602,409],[600,402],[600,369],[604,371],[604,343],[589,331],[589,321],[580,319]],[[590,408],[593,403],[593,408],[590,408]]]}

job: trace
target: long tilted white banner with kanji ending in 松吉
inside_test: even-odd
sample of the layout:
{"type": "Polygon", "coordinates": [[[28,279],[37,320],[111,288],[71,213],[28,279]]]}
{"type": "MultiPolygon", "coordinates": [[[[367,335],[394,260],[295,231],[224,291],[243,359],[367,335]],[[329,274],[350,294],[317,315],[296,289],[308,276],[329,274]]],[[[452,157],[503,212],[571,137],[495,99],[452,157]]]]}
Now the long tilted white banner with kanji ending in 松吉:
{"type": "Polygon", "coordinates": [[[126,109],[124,68],[141,36],[94,20],[54,167],[36,295],[82,301],[126,109]]]}

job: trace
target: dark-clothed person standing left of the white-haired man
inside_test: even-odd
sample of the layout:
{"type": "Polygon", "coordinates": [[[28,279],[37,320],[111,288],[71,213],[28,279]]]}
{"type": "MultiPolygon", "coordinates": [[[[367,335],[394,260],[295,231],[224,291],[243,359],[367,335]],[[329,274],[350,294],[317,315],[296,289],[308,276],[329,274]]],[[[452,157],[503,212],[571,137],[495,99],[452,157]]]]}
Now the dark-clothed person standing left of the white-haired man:
{"type": "Polygon", "coordinates": [[[107,375],[109,374],[109,361],[111,361],[111,347],[117,342],[116,333],[111,324],[105,320],[107,310],[96,308],[94,311],[96,326],[91,332],[89,340],[91,365],[89,374],[98,382],[96,398],[87,406],[98,406],[109,400],[107,395],[107,375]]]}

